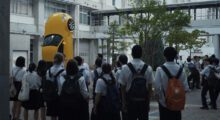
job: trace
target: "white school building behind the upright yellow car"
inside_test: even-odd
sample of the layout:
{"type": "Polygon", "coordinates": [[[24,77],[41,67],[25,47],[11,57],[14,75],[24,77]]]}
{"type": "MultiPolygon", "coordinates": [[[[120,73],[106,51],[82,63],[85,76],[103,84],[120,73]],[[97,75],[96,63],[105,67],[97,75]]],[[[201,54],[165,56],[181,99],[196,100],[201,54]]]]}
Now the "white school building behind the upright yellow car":
{"type": "Polygon", "coordinates": [[[48,16],[65,12],[74,18],[76,24],[73,35],[75,55],[82,56],[90,65],[94,64],[98,44],[104,40],[100,26],[107,25],[107,18],[93,16],[91,11],[124,8],[127,4],[127,0],[11,0],[10,61],[13,63],[22,55],[27,59],[26,64],[37,63],[41,59],[44,24],[48,16]]]}

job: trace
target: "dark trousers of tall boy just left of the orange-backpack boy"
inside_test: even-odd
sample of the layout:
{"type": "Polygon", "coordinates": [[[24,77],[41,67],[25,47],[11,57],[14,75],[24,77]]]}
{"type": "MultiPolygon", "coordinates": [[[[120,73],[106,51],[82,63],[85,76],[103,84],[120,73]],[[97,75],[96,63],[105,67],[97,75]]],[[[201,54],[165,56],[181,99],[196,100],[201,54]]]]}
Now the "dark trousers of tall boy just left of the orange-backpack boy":
{"type": "Polygon", "coordinates": [[[127,120],[148,120],[149,104],[147,102],[129,102],[127,120]]]}

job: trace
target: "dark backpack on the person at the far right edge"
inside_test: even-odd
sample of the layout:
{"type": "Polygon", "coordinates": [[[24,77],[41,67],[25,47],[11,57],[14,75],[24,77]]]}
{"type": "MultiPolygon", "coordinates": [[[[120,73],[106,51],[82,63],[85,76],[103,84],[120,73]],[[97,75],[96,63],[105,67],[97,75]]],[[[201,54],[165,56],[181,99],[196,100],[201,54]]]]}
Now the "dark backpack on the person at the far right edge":
{"type": "Polygon", "coordinates": [[[217,88],[218,87],[218,77],[216,74],[218,73],[217,70],[213,67],[209,67],[209,75],[207,77],[207,83],[209,87],[217,88]]]}

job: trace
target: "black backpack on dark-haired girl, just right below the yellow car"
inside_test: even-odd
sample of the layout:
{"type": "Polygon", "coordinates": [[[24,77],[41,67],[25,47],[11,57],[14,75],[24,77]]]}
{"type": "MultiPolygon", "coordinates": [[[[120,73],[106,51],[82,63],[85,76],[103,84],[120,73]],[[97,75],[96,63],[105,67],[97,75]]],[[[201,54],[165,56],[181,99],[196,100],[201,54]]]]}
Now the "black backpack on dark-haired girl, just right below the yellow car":
{"type": "Polygon", "coordinates": [[[79,79],[81,75],[76,75],[73,79],[69,76],[64,76],[65,82],[63,83],[60,102],[62,106],[80,106],[83,101],[83,96],[80,92],[79,79]]]}

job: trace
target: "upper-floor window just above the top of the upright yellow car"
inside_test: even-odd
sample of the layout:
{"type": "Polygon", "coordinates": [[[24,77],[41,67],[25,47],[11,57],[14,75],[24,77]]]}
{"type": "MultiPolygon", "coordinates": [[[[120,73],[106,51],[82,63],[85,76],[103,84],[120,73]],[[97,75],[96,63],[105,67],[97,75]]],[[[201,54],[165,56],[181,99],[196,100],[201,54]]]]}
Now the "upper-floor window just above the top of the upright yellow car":
{"type": "Polygon", "coordinates": [[[65,3],[56,3],[46,0],[45,2],[45,18],[48,18],[50,15],[56,12],[63,12],[70,14],[70,5],[65,3]]]}

